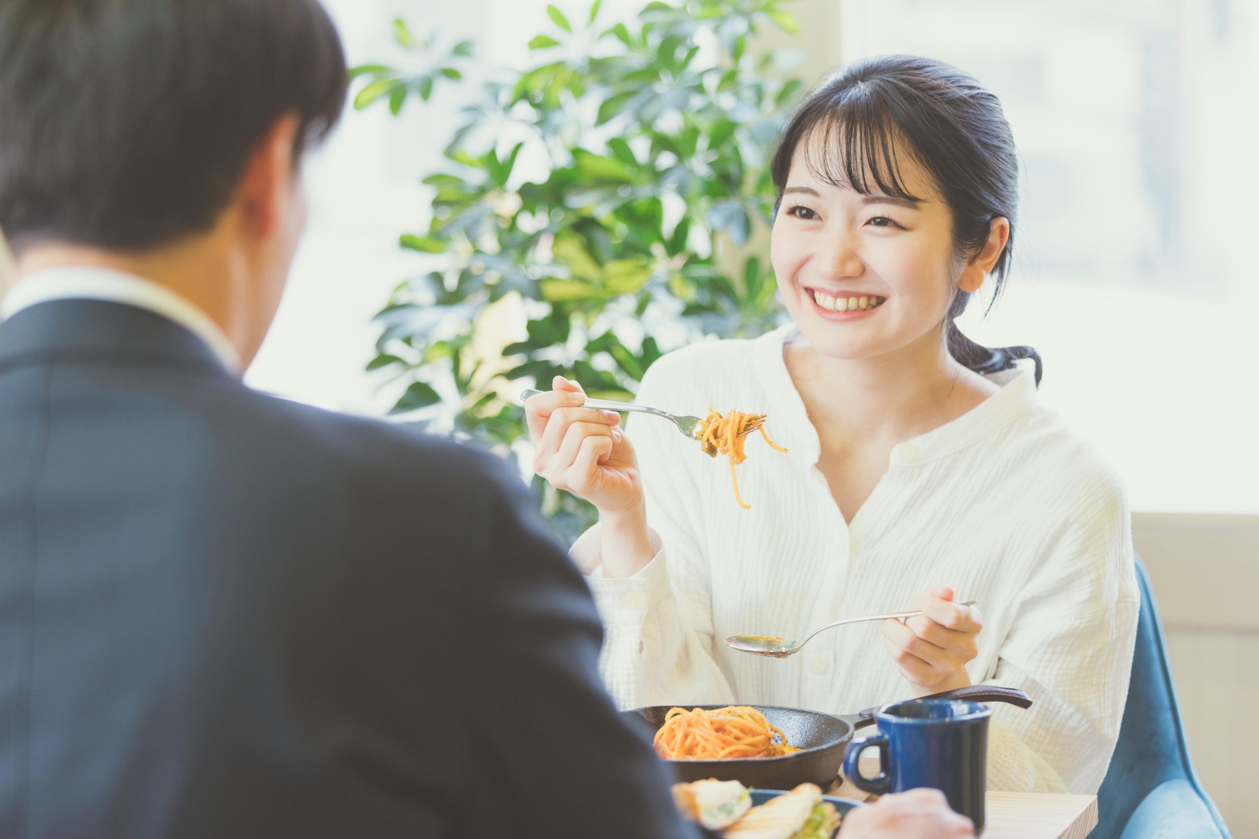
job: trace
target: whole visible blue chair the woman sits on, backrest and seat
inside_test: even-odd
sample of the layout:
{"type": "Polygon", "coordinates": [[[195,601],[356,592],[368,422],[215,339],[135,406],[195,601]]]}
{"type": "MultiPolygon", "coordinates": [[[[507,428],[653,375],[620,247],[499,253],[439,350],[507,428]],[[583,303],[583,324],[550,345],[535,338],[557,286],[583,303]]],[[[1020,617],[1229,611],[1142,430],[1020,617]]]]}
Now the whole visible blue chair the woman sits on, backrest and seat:
{"type": "Polygon", "coordinates": [[[1188,758],[1163,631],[1139,556],[1137,581],[1141,619],[1132,684],[1089,839],[1230,839],[1188,758]]]}

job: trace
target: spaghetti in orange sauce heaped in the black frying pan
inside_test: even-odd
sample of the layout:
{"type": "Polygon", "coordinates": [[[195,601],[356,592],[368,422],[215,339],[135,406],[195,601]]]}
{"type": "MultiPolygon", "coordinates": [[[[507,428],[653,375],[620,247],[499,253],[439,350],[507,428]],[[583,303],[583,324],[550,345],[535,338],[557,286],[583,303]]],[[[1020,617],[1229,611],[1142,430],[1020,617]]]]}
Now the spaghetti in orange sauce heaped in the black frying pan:
{"type": "Polygon", "coordinates": [[[671,760],[781,757],[799,751],[782,728],[747,706],[670,708],[653,745],[657,755],[671,760]]]}

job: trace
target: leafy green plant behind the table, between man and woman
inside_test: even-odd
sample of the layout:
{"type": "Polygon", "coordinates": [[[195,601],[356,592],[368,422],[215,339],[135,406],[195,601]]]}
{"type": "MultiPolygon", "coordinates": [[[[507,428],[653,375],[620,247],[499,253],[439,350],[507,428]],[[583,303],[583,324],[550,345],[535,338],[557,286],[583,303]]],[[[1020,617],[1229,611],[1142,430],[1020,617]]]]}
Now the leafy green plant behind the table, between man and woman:
{"type": "MultiPolygon", "coordinates": [[[[524,386],[560,375],[632,399],[662,352],[779,322],[768,259],[749,242],[771,223],[768,155],[801,81],[788,50],[749,42],[794,31],[784,5],[650,3],[609,23],[597,0],[575,25],[548,6],[536,62],[463,109],[442,171],[424,179],[432,220],[400,238],[434,268],[376,316],[369,369],[405,385],[393,413],[514,457],[524,386]],[[519,340],[480,347],[505,313],[519,340]]],[[[355,107],[397,114],[461,83],[471,43],[439,52],[400,20],[394,35],[427,69],[355,68],[355,107]]],[[[593,521],[580,499],[534,486],[563,536],[593,521]]]]}

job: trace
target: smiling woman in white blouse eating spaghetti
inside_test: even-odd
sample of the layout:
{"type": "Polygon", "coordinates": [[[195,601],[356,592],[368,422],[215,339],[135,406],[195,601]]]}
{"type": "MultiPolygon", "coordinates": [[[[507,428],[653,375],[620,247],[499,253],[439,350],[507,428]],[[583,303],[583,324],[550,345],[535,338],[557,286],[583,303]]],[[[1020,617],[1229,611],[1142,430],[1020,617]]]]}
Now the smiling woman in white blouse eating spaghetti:
{"type": "Polygon", "coordinates": [[[866,60],[805,102],[773,176],[793,323],[672,352],[637,397],[768,414],[789,452],[748,438],[749,511],[728,465],[665,421],[636,418],[631,443],[563,379],[526,406],[538,473],[599,509],[573,556],[607,625],[608,688],[624,707],[846,712],[1017,687],[1035,707],[993,706],[991,789],[1095,791],[1137,623],[1127,501],[1037,403],[1039,356],[954,325],[1010,265],[1017,165],[1000,103],[938,62],[866,60]],[[721,643],[906,606],[924,616],[831,630],[789,659],[721,643]]]}

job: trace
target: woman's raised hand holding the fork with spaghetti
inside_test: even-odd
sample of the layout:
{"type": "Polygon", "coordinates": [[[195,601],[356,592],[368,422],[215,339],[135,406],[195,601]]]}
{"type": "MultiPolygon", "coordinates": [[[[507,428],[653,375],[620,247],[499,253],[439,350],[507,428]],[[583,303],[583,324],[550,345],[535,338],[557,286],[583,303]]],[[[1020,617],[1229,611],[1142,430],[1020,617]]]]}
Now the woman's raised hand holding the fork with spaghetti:
{"type": "Polygon", "coordinates": [[[554,390],[525,401],[534,472],[599,509],[599,518],[641,517],[642,479],[633,444],[621,430],[621,415],[583,408],[585,392],[555,376],[554,390]]]}

